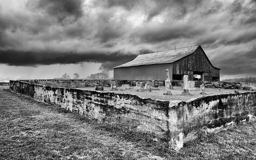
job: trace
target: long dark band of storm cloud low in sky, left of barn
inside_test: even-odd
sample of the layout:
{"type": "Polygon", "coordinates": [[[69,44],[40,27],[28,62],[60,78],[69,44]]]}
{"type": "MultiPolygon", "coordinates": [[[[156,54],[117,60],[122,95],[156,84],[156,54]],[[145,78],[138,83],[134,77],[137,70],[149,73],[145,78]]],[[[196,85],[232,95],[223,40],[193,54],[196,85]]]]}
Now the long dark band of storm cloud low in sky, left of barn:
{"type": "Polygon", "coordinates": [[[54,51],[22,52],[15,50],[0,50],[0,64],[9,66],[37,66],[50,64],[77,64],[79,62],[128,62],[136,57],[135,54],[115,52],[91,51],[84,53],[54,51]]]}

